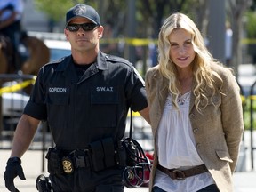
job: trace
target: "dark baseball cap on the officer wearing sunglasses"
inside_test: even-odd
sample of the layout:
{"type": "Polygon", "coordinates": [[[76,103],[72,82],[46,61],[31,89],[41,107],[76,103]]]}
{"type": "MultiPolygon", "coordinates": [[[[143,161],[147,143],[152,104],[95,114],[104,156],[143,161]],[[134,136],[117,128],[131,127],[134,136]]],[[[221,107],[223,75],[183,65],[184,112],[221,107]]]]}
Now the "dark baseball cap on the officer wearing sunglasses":
{"type": "Polygon", "coordinates": [[[92,6],[87,4],[76,4],[76,6],[68,10],[66,14],[66,26],[71,20],[77,17],[84,17],[91,20],[94,24],[100,26],[100,16],[98,12],[96,12],[92,6]]]}

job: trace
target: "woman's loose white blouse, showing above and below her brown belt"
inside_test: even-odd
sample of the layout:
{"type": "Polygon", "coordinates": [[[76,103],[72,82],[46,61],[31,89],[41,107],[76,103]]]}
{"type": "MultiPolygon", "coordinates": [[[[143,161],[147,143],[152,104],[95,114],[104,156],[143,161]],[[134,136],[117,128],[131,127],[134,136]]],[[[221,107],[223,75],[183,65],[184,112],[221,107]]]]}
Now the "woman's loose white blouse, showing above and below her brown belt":
{"type": "MultiPolygon", "coordinates": [[[[191,92],[178,99],[179,110],[172,105],[172,95],[167,97],[161,118],[156,143],[158,163],[162,166],[181,170],[204,164],[196,151],[196,142],[189,120],[189,101],[191,92]]],[[[154,185],[165,191],[197,191],[213,184],[210,172],[188,177],[185,180],[172,180],[164,172],[156,171],[154,185]]]]}

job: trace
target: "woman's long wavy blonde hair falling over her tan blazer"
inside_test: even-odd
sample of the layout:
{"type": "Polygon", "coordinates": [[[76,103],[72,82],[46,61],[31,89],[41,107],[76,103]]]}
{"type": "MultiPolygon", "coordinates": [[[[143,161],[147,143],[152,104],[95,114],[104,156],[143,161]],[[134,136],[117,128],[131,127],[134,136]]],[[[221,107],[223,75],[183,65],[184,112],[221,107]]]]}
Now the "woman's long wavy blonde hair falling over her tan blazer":
{"type": "Polygon", "coordinates": [[[180,94],[180,83],[177,79],[176,66],[172,62],[172,59],[170,58],[171,45],[168,37],[176,28],[184,28],[188,31],[188,33],[192,35],[191,40],[194,51],[196,52],[196,57],[193,60],[193,63],[191,63],[193,66],[193,79],[194,81],[196,81],[196,86],[195,89],[193,90],[193,93],[196,96],[196,109],[200,112],[201,108],[199,108],[199,106],[202,100],[206,100],[206,103],[204,103],[203,108],[209,102],[208,98],[205,95],[205,88],[208,87],[208,89],[212,90],[212,96],[216,92],[213,77],[217,77],[222,82],[220,76],[211,69],[212,62],[219,62],[214,60],[212,54],[208,52],[206,46],[204,45],[203,36],[196,27],[196,24],[193,22],[193,20],[190,20],[188,16],[180,12],[177,12],[173,13],[164,21],[164,24],[161,27],[158,36],[159,71],[169,81],[168,90],[172,93],[172,103],[175,106],[175,108],[178,108],[177,99],[180,94]]]}

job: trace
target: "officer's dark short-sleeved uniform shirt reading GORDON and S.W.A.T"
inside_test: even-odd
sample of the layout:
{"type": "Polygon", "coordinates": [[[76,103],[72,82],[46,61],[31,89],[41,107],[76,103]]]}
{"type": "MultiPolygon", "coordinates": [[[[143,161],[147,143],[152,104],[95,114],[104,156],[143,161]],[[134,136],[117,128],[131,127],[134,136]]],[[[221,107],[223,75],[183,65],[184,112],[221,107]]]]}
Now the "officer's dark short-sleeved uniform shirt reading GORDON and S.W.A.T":
{"type": "Polygon", "coordinates": [[[41,68],[24,114],[47,120],[57,147],[87,148],[121,140],[131,105],[148,106],[144,81],[129,61],[99,52],[80,78],[71,55],[41,68]]]}

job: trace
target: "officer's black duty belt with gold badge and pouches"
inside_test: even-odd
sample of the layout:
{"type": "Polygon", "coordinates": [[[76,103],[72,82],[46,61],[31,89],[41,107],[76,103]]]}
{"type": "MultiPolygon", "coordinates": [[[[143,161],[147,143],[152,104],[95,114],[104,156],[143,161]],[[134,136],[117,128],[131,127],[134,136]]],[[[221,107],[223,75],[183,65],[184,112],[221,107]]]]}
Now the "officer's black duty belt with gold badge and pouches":
{"type": "Polygon", "coordinates": [[[49,148],[46,158],[51,174],[72,173],[76,168],[83,167],[100,172],[110,167],[123,167],[126,152],[123,147],[116,147],[112,138],[104,138],[89,143],[88,148],[83,149],[49,148]]]}

